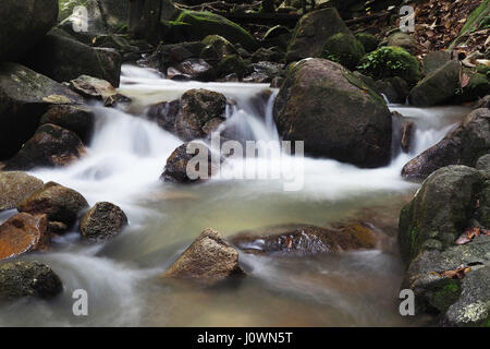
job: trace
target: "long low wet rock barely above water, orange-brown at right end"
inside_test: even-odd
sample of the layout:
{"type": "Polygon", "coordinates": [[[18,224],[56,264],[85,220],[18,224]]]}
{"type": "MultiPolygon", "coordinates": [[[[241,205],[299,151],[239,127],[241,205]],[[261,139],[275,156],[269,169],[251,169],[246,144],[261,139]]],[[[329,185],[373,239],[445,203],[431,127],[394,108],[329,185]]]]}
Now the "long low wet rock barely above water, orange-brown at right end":
{"type": "Polygon", "coordinates": [[[254,254],[318,254],[362,249],[375,249],[377,231],[354,222],[332,226],[329,229],[315,226],[279,226],[266,229],[266,233],[243,231],[231,239],[238,249],[254,254]]]}

